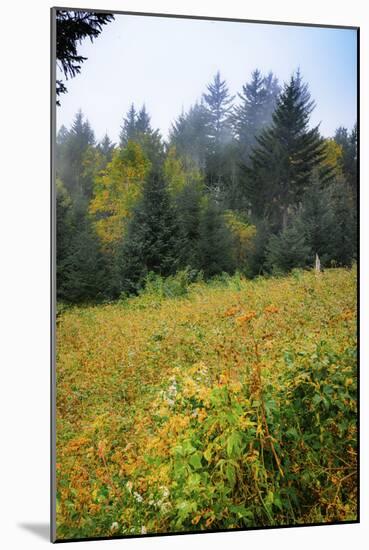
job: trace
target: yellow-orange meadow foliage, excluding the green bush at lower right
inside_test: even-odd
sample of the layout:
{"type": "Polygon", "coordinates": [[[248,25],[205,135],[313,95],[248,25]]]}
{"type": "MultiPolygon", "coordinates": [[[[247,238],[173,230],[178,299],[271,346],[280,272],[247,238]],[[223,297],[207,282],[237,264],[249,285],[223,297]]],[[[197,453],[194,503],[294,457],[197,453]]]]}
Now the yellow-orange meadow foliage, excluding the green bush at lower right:
{"type": "MultiPolygon", "coordinates": [[[[311,353],[319,338],[340,354],[355,342],[355,282],[354,269],[327,269],[319,280],[304,272],[298,281],[242,280],[238,290],[197,285],[186,299],[163,300],[160,308],[142,307],[139,297],[124,306],[63,312],[56,363],[58,536],[82,532],[91,518],[91,536],[109,536],[115,521],[123,533],[140,533],[142,526],[168,532],[171,495],[162,487],[169,487],[179,443],[193,427],[206,426],[202,468],[220,458],[216,438],[223,428],[218,420],[206,424],[214,391],[239,404],[239,429],[272,441],[261,419],[250,419],[253,398],[244,388],[259,383],[257,376],[273,386],[286,369],[287,349],[311,353]],[[112,509],[116,516],[101,527],[112,509]]],[[[347,388],[353,383],[347,375],[347,388]]],[[[258,480],[262,453],[247,451],[250,479],[258,480]]],[[[354,453],[347,448],[348,456],[354,453]]],[[[191,514],[197,529],[217,526],[208,508],[191,514]]]]}

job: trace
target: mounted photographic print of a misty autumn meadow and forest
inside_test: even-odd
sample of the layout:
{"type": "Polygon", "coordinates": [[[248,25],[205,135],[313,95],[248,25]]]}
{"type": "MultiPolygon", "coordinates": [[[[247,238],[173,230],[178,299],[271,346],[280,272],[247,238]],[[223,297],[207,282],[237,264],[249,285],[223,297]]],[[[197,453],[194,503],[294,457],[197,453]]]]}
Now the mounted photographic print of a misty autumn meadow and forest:
{"type": "Polygon", "coordinates": [[[359,30],[210,16],[51,12],[53,541],[359,519],[359,30]]]}

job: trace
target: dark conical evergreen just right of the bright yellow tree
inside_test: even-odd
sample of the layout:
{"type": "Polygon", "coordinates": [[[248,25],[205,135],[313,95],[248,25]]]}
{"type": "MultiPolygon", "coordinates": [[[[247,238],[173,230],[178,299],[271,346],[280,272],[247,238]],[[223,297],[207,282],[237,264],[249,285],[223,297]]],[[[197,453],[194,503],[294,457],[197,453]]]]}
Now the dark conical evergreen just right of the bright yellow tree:
{"type": "Polygon", "coordinates": [[[174,207],[162,174],[152,171],[123,242],[121,290],[137,292],[150,272],[164,277],[174,274],[179,250],[180,233],[174,207]]]}

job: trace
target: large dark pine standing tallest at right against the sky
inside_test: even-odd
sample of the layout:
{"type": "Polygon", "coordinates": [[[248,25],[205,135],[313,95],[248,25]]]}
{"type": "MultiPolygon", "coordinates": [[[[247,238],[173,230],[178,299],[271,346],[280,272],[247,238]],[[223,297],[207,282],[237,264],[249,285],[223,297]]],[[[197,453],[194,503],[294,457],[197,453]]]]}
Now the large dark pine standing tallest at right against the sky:
{"type": "MultiPolygon", "coordinates": [[[[318,126],[309,128],[315,107],[300,73],[285,84],[273,122],[257,137],[246,170],[246,190],[252,212],[267,217],[274,231],[287,226],[309,186],[311,174],[325,158],[318,126]]],[[[331,175],[325,173],[324,181],[331,175]]]]}

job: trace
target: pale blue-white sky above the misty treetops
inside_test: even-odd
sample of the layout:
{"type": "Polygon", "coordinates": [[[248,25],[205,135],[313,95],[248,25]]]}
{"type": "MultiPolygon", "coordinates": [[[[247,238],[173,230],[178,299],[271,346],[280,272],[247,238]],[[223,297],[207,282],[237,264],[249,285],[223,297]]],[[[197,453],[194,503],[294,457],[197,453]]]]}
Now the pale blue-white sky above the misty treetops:
{"type": "Polygon", "coordinates": [[[145,103],[166,138],[218,70],[237,94],[255,68],[273,71],[281,83],[300,68],[316,102],[311,125],[320,123],[329,137],[356,122],[356,48],[351,29],[116,15],[93,43],[79,46],[88,59],[65,82],[57,125],[69,128],[82,109],[98,140],[107,133],[118,142],[131,103],[145,103]]]}

